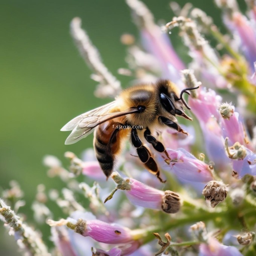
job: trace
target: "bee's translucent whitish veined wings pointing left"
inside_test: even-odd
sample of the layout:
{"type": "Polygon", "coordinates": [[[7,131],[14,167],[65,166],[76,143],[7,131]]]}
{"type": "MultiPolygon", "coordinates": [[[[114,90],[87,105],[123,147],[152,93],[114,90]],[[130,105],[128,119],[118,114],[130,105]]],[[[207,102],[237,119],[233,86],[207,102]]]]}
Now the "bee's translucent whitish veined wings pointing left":
{"type": "Polygon", "coordinates": [[[80,116],[77,116],[69,121],[61,128],[61,131],[72,130],[69,137],[67,137],[65,144],[73,144],[85,138],[93,132],[96,126],[100,125],[101,123],[137,111],[138,110],[136,108],[120,111],[117,107],[116,101],[113,101],[102,107],[95,108],[94,110],[81,114],[80,116]]]}

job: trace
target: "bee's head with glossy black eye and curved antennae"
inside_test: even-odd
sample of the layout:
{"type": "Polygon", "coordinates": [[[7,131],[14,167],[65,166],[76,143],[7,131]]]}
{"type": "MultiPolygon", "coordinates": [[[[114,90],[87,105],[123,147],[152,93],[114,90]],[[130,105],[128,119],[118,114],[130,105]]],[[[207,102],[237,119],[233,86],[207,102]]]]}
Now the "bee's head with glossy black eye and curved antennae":
{"type": "Polygon", "coordinates": [[[185,88],[179,94],[178,87],[169,80],[160,80],[157,83],[158,97],[160,105],[170,114],[183,116],[186,119],[192,120],[191,117],[184,113],[183,107],[190,109],[184,99],[183,93],[187,93],[187,90],[194,90],[195,88],[185,88]],[[180,97],[178,97],[178,95],[180,97]]]}

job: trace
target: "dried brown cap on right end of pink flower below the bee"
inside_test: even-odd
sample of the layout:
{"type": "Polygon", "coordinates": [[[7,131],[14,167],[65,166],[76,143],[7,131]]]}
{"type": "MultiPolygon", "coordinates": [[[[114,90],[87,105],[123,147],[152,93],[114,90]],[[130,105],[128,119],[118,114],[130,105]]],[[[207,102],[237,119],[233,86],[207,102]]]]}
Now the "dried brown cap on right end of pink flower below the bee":
{"type": "Polygon", "coordinates": [[[166,190],[163,196],[162,209],[166,213],[176,213],[180,210],[180,197],[171,190],[166,190]]]}

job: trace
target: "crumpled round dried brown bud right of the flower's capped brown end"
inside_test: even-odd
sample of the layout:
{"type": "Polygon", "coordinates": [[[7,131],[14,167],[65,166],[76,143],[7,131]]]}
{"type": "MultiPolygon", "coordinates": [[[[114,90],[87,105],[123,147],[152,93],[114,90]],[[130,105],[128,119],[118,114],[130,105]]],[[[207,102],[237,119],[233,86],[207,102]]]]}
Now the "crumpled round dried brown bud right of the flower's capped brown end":
{"type": "Polygon", "coordinates": [[[210,200],[214,208],[227,197],[227,187],[222,182],[212,180],[204,187],[203,195],[206,200],[210,200]]]}

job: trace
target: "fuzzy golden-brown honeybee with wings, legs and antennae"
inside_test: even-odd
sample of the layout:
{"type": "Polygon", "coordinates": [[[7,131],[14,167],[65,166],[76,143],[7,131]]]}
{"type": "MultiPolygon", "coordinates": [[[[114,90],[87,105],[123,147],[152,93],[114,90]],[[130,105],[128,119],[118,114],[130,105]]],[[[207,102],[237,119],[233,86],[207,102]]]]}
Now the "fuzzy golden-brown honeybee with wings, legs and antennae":
{"type": "MultiPolygon", "coordinates": [[[[169,80],[160,79],[156,83],[139,84],[123,90],[113,102],[81,114],[66,125],[61,131],[72,131],[65,144],[73,144],[87,137],[94,130],[94,150],[102,171],[111,175],[117,155],[122,150],[123,142],[130,136],[131,144],[136,148],[138,157],[145,168],[161,182],[160,171],[152,157],[150,149],[143,140],[169,158],[165,147],[153,135],[155,128],[171,127],[180,133],[187,134],[177,123],[175,116],[188,120],[191,117],[184,113],[183,107],[190,109],[183,93],[180,97],[178,87],[169,80]]],[[[170,159],[170,158],[169,158],[170,159]]]]}

